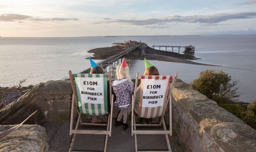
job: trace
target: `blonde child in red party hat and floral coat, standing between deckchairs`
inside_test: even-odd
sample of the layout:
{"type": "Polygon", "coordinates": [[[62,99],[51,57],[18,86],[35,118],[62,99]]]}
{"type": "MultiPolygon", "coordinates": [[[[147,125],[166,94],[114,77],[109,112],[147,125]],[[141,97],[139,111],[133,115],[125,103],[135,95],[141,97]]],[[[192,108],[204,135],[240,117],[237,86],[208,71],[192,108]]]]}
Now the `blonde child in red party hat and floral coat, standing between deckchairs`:
{"type": "Polygon", "coordinates": [[[115,105],[120,109],[115,126],[123,124],[123,130],[128,128],[127,115],[128,107],[132,102],[132,94],[134,92],[134,86],[130,79],[129,68],[126,66],[125,58],[123,58],[122,65],[116,67],[117,80],[112,82],[112,88],[116,94],[115,105]],[[121,121],[123,117],[123,122],[121,121]]]}

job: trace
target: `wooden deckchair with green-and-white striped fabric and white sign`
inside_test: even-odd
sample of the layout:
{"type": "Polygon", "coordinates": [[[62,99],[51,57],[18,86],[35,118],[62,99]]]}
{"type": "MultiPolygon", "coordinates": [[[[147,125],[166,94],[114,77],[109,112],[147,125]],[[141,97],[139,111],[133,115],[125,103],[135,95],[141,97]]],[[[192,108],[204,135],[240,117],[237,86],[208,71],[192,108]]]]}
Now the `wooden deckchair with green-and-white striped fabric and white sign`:
{"type": "Polygon", "coordinates": [[[109,74],[72,74],[69,71],[71,86],[73,89],[70,130],[69,135],[73,135],[69,152],[72,151],[76,134],[103,134],[106,135],[104,152],[107,148],[108,136],[111,136],[112,128],[112,111],[113,111],[113,95],[111,89],[111,72],[109,74]],[[109,86],[107,85],[109,79],[109,86]],[[109,97],[108,88],[109,87],[109,97]],[[110,98],[111,111],[108,113],[108,98],[110,98]],[[75,103],[75,105],[74,105],[75,103]],[[76,108],[74,107],[76,106],[76,108]],[[76,109],[78,120],[75,130],[73,130],[73,113],[76,109]],[[81,115],[105,115],[108,114],[108,123],[84,123],[81,115]],[[78,130],[78,126],[106,126],[106,130],[78,130]]]}

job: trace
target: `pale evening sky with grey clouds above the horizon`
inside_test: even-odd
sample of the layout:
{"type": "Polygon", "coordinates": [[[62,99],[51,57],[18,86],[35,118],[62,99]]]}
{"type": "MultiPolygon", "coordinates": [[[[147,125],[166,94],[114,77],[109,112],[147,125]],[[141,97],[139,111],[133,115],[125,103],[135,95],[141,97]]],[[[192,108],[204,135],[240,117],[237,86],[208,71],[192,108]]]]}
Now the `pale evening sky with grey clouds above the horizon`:
{"type": "Polygon", "coordinates": [[[256,34],[256,0],[1,0],[2,37],[256,34]]]}

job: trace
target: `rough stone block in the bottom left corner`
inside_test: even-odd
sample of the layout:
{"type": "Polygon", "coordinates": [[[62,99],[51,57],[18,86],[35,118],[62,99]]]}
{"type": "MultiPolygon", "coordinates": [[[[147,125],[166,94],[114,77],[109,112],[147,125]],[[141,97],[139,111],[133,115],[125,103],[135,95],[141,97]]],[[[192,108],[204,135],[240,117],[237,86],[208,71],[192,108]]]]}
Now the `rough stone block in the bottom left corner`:
{"type": "MultiPolygon", "coordinates": [[[[15,125],[0,125],[0,133],[15,125]]],[[[48,151],[45,128],[39,125],[21,125],[0,140],[1,151],[48,151]]]]}

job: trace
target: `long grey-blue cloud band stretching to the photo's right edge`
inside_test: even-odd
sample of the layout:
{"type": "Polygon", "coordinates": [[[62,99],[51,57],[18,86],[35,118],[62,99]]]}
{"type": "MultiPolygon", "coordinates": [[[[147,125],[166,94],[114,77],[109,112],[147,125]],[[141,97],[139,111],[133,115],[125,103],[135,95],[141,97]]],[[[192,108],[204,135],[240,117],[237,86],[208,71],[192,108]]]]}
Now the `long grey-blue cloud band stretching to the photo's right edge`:
{"type": "MultiPolygon", "coordinates": [[[[166,16],[160,18],[150,19],[108,19],[97,23],[126,23],[137,26],[148,25],[164,25],[169,23],[199,23],[202,25],[218,25],[220,22],[224,22],[232,19],[251,19],[256,18],[256,12],[241,12],[233,14],[213,14],[209,16],[193,15],[193,16],[166,16]]],[[[164,26],[163,26],[164,27],[164,26]]]]}

